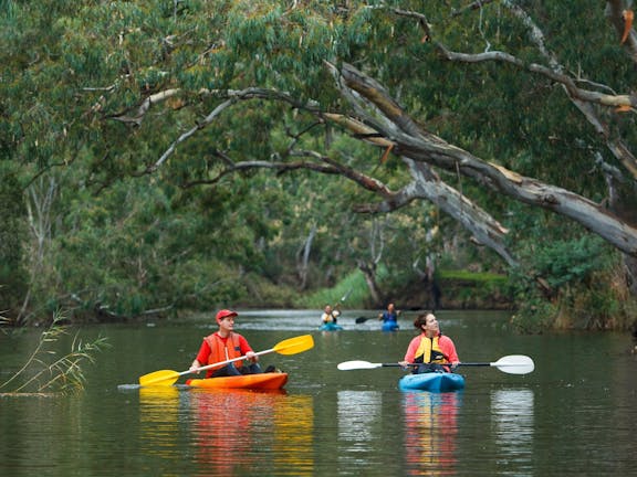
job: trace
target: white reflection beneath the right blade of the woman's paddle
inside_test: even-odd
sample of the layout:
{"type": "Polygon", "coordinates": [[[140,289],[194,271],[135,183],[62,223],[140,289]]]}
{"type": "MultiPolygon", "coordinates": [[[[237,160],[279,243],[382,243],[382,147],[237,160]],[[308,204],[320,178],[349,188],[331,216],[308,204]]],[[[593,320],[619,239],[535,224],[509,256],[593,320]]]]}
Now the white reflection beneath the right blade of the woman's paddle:
{"type": "Polygon", "coordinates": [[[501,463],[515,463],[516,475],[533,475],[534,394],[530,389],[491,393],[494,442],[501,463]]]}

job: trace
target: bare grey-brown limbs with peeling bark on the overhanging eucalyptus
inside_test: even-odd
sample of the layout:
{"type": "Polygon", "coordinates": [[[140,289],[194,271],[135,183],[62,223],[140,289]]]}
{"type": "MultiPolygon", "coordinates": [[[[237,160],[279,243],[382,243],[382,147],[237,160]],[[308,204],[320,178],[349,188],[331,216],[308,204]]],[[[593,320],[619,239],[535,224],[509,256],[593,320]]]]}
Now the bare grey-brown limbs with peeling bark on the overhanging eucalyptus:
{"type": "MultiPolygon", "coordinates": [[[[476,2],[471,4],[471,8],[482,8],[485,2],[476,2]]],[[[315,115],[321,121],[330,121],[342,127],[354,138],[382,147],[385,155],[393,153],[403,158],[411,174],[411,181],[400,190],[394,191],[370,174],[344,166],[334,158],[316,151],[291,150],[290,157],[303,157],[304,160],[242,160],[236,162],[227,160],[224,161],[227,167],[222,172],[210,180],[198,183],[213,183],[228,173],[251,168],[271,168],[280,171],[304,168],[321,173],[340,174],[374,192],[380,199],[376,203],[357,204],[356,211],[389,212],[414,200],[431,201],[459,221],[466,230],[473,234],[477,241],[495,251],[507,263],[514,264],[515,259],[505,246],[508,231],[487,211],[481,210],[460,191],[445,183],[435,170],[435,168],[439,168],[453,174],[471,178],[513,200],[568,218],[606,240],[627,257],[637,258],[637,220],[629,216],[627,209],[622,206],[622,204],[627,203],[627,199],[635,197],[635,192],[630,188],[635,187],[634,181],[637,178],[637,158],[620,136],[614,134],[613,126],[607,124],[597,112],[597,108],[616,107],[626,107],[631,110],[637,106],[637,97],[633,94],[610,94],[608,93],[609,88],[605,91],[599,85],[595,85],[596,88],[583,87],[587,83],[565,73],[565,68],[546,47],[543,32],[525,11],[511,1],[503,0],[502,4],[528,28],[529,38],[546,60],[546,65],[526,64],[505,52],[490,51],[466,54],[452,52],[441,43],[435,43],[436,46],[449,61],[503,62],[532,74],[543,75],[551,82],[561,85],[595,131],[606,140],[608,150],[617,158],[624,170],[630,174],[629,178],[624,179],[629,186],[617,188],[619,191],[616,195],[617,200],[609,201],[609,208],[563,188],[534,178],[523,177],[501,165],[485,161],[467,150],[448,144],[415,121],[382,84],[349,64],[342,64],[336,67],[326,63],[326,66],[332,72],[341,95],[352,106],[354,110],[352,115],[343,112],[325,113],[316,104],[299,104],[288,94],[278,91],[247,88],[244,91],[203,92],[202,94],[206,95],[218,96],[221,99],[219,106],[197,126],[182,134],[147,172],[157,170],[174,153],[180,142],[188,140],[199,129],[217,120],[227,108],[237,102],[257,98],[286,102],[294,108],[315,115]],[[599,91],[604,91],[604,93],[599,91]]],[[[625,26],[619,21],[620,8],[624,7],[622,1],[608,2],[607,14],[618,31],[625,26]]],[[[428,34],[430,33],[427,19],[397,9],[393,9],[393,12],[424,22],[428,34]]],[[[625,47],[629,51],[635,50],[634,36],[635,34],[631,32],[625,42],[625,47]]],[[[631,269],[631,274],[637,276],[637,268],[631,269]]]]}

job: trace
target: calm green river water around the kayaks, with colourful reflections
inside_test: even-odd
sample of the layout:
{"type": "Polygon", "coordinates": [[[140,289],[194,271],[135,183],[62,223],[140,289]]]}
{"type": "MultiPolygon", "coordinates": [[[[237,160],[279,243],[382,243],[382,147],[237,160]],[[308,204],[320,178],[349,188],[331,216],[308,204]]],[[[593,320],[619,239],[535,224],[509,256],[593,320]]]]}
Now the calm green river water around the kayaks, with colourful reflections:
{"type": "MultiPolygon", "coordinates": [[[[462,392],[401,392],[399,368],[338,371],[348,360],[396,362],[414,336],[376,320],[317,330],[320,311],[247,311],[257,350],[312,333],[314,349],[269,353],[284,392],[139,389],[140,375],[189,368],[213,318],[80,330],[111,349],[86,368],[80,395],[0,398],[1,476],[628,476],[637,475],[637,357],[629,336],[519,336],[501,312],[440,311],[460,359],[528,354],[535,371],[461,368],[462,392]]],[[[38,341],[0,333],[0,382],[38,341]]]]}

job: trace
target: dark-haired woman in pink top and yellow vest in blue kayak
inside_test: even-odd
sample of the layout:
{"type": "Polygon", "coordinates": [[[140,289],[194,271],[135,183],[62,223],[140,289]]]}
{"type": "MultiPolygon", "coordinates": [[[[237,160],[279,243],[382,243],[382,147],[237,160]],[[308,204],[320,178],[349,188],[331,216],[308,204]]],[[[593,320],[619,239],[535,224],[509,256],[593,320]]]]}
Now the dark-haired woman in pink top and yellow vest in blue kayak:
{"type": "Polygon", "coordinates": [[[420,335],[409,343],[400,365],[420,364],[415,368],[414,373],[449,372],[458,365],[460,359],[456,352],[456,344],[451,338],[440,332],[440,326],[434,314],[419,315],[414,320],[414,327],[420,330],[420,335]]]}

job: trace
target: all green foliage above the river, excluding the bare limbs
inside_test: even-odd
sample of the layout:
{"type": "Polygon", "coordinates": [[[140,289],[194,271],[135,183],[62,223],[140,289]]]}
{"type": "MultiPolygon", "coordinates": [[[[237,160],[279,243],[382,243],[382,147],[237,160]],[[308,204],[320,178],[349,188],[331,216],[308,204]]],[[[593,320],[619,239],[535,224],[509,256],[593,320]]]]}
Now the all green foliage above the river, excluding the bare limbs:
{"type": "MultiPolygon", "coordinates": [[[[544,30],[546,47],[565,72],[575,72],[591,87],[605,85],[598,89],[606,93],[633,88],[637,73],[597,2],[521,6],[544,30]]],[[[325,63],[348,62],[386,86],[426,130],[521,174],[603,200],[606,183],[594,158],[613,158],[562,88],[499,62],[458,64],[441,57],[437,42],[460,52],[500,50],[529,64],[547,62],[528,26],[505,6],[460,7],[268,0],[0,3],[0,160],[15,174],[0,174],[0,194],[18,197],[25,176],[65,171],[42,269],[23,253],[34,241],[24,230],[22,201],[0,202],[8,208],[0,232],[7,234],[0,242],[0,297],[10,296],[12,307],[20,301],[28,267],[34,275],[32,309],[53,311],[64,304],[90,314],[98,306],[116,316],[205,309],[254,296],[289,301],[289,290],[301,287],[301,293],[327,288],[327,295],[343,296],[349,288],[331,288],[348,282],[361,262],[377,266],[387,294],[416,280],[414,268],[422,268],[428,257],[449,269],[501,272],[503,264],[491,252],[476,247],[430,204],[366,216],[354,214],[353,206],[373,205],[377,195],[343,178],[272,170],[219,177],[231,161],[285,163],[300,159],[293,151],[313,150],[390,190],[406,186],[411,177],[399,157],[382,165],[384,150],[323,117],[268,99],[232,99],[226,107],[227,89],[259,87],[289,94],[297,104],[312,102],[323,112],[347,113],[351,106],[325,63]],[[422,41],[420,17],[405,11],[427,18],[431,42],[422,41]],[[156,96],[168,91],[174,92],[168,99],[156,96]],[[203,127],[202,118],[213,112],[203,127]],[[196,126],[200,129],[147,176],[196,126]],[[307,269],[301,271],[300,251],[314,232],[307,269]]],[[[608,110],[604,118],[612,135],[636,142],[633,115],[608,110]]],[[[440,177],[511,230],[510,246],[522,263],[512,275],[519,278],[515,296],[535,316],[550,311],[536,295],[536,277],[557,293],[575,294],[605,266],[599,243],[565,234],[560,221],[511,203],[470,178],[440,177]]],[[[480,279],[500,285],[488,275],[480,279]]],[[[353,289],[355,296],[365,285],[353,289]]],[[[333,300],[309,298],[321,307],[333,300]]],[[[610,306],[603,297],[596,300],[610,306]]]]}

